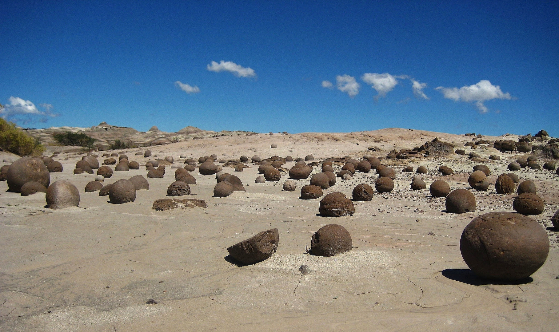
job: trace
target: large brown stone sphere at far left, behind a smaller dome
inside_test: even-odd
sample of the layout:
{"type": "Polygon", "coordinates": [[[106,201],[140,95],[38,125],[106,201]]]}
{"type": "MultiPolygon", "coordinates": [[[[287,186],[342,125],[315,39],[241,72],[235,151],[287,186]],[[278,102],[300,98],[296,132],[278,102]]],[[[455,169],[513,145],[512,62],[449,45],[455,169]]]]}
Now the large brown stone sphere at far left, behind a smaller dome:
{"type": "Polygon", "coordinates": [[[20,192],[21,186],[29,181],[39,182],[48,188],[50,173],[42,160],[23,157],[10,165],[6,173],[6,180],[11,192],[20,192]]]}

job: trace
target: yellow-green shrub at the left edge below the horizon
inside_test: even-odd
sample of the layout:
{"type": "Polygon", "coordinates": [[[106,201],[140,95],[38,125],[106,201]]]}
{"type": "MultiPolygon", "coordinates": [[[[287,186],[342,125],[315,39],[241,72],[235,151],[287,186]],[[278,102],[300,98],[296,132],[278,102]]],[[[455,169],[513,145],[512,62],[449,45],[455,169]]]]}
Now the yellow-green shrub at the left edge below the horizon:
{"type": "Polygon", "coordinates": [[[20,156],[38,155],[45,150],[39,139],[25,134],[3,118],[0,118],[0,148],[20,156]]]}

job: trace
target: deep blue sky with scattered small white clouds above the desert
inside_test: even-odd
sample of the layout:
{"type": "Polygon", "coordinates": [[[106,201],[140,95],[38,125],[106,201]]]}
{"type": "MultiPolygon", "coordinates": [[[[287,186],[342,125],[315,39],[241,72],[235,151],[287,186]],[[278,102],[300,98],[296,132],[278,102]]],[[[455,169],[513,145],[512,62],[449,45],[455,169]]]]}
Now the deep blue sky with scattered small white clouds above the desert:
{"type": "Polygon", "coordinates": [[[559,136],[559,2],[0,1],[23,127],[559,136]]]}

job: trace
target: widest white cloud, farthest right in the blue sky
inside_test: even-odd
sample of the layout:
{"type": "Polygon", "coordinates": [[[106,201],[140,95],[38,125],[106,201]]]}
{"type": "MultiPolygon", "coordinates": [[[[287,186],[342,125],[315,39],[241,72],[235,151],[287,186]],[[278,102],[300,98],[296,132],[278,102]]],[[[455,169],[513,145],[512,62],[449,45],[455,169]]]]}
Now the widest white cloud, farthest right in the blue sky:
{"type": "Polygon", "coordinates": [[[494,86],[486,79],[482,79],[480,82],[472,84],[471,86],[463,86],[461,88],[437,87],[435,90],[442,92],[444,98],[452,99],[453,101],[475,102],[481,113],[487,113],[487,111],[489,111],[484,105],[484,102],[487,100],[510,100],[513,98],[508,92],[503,93],[499,86],[494,86]]]}

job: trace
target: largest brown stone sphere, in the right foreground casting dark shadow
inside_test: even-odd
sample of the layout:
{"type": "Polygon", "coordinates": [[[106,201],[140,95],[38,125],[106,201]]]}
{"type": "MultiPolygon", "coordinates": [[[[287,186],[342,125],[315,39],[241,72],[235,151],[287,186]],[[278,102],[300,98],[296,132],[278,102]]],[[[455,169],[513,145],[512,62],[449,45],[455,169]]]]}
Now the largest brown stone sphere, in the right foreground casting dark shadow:
{"type": "Polygon", "coordinates": [[[460,238],[464,262],[481,278],[515,281],[546,262],[549,239],[536,220],[513,212],[473,219],[460,238]]]}

